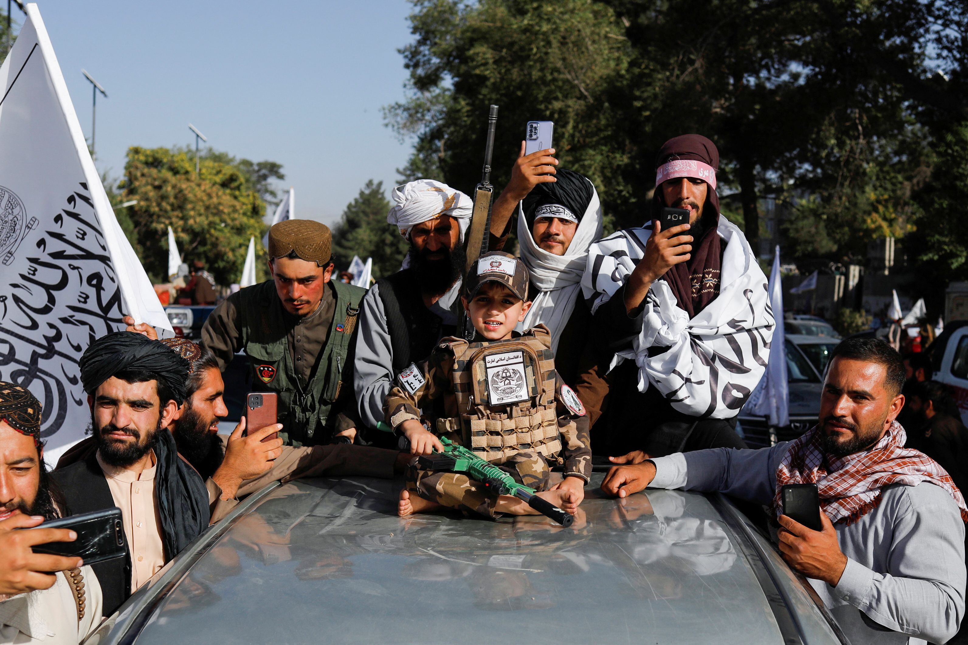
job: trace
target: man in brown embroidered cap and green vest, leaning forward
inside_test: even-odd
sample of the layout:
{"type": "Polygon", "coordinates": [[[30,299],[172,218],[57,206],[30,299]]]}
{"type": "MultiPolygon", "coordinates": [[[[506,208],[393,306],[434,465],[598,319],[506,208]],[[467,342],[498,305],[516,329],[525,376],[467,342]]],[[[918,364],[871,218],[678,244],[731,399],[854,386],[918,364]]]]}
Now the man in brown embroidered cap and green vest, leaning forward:
{"type": "Polygon", "coordinates": [[[280,221],[269,229],[268,242],[272,279],[215,308],[201,328],[201,345],[223,371],[237,352],[246,353],[253,390],[279,396],[280,436],[287,445],[352,441],[352,341],[364,291],[332,279],[325,224],[280,221]]]}

